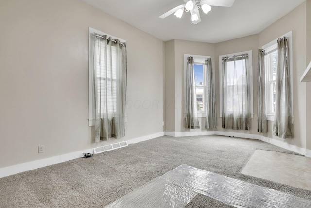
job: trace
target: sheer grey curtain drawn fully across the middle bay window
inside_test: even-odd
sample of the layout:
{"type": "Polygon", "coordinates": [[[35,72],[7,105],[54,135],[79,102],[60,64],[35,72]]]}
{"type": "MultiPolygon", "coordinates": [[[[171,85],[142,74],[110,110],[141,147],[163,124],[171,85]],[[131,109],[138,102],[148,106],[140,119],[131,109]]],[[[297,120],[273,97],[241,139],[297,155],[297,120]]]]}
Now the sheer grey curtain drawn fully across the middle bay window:
{"type": "Polygon", "coordinates": [[[250,85],[248,55],[223,58],[222,127],[250,129],[250,85]]]}

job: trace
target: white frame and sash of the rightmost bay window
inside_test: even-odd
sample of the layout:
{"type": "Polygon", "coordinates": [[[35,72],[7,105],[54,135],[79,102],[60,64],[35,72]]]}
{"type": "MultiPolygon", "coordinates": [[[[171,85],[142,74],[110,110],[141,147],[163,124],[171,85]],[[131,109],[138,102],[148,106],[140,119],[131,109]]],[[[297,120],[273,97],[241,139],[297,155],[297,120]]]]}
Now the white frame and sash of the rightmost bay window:
{"type": "MultiPolygon", "coordinates": [[[[290,59],[290,61],[289,61],[290,62],[290,66],[289,67],[290,67],[290,76],[291,76],[290,77],[290,82],[291,82],[291,100],[292,100],[292,115],[293,115],[292,123],[294,123],[293,53],[292,53],[292,49],[293,49],[293,31],[290,31],[290,32],[288,32],[288,33],[278,37],[278,38],[282,38],[284,36],[288,39],[288,47],[289,47],[289,59],[290,59]]],[[[261,47],[262,50],[265,50],[265,54],[271,52],[272,50],[274,50],[275,47],[276,47],[276,50],[277,50],[277,40],[278,40],[278,38],[274,39],[273,41],[271,41],[271,42],[269,42],[269,43],[267,43],[267,44],[265,44],[265,45],[263,45],[261,47]]],[[[265,71],[267,72],[267,69],[265,69],[265,71]]],[[[265,73],[265,85],[266,86],[268,84],[268,81],[269,81],[268,80],[268,73],[265,73]]],[[[265,98],[266,98],[266,115],[267,115],[267,120],[268,121],[274,121],[274,116],[275,116],[274,113],[271,113],[271,112],[268,113],[267,105],[268,105],[268,101],[270,103],[271,100],[270,100],[270,97],[268,97],[268,89],[267,89],[267,87],[266,87],[265,95],[266,95],[265,98]]],[[[269,95],[270,95],[270,93],[269,93],[269,95]]]]}

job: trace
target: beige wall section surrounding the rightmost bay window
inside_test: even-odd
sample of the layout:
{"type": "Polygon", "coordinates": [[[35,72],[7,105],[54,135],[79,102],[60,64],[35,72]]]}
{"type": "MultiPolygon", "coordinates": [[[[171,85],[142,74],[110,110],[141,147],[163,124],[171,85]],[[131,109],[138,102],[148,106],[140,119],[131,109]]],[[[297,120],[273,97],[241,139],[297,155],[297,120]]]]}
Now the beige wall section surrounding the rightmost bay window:
{"type": "Polygon", "coordinates": [[[306,69],[306,2],[259,33],[259,47],[293,31],[293,94],[294,94],[294,139],[279,139],[272,136],[273,122],[268,123],[268,137],[306,148],[306,84],[300,77],[306,69]]]}

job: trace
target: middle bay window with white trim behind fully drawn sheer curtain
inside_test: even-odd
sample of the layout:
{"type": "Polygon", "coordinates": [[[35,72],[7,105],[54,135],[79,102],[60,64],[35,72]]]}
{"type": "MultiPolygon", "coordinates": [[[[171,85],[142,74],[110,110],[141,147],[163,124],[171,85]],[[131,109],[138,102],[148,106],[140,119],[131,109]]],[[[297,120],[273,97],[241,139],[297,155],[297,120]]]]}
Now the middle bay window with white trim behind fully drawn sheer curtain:
{"type": "MultiPolygon", "coordinates": [[[[253,113],[253,67],[252,67],[252,51],[239,52],[234,54],[227,54],[219,56],[219,83],[220,83],[220,117],[222,117],[222,89],[223,89],[223,58],[227,58],[227,73],[226,77],[226,86],[225,86],[225,113],[235,113],[239,111],[238,106],[243,106],[245,104],[245,92],[247,88],[250,91],[250,100],[249,105],[247,106],[251,114],[251,118],[254,117],[253,113]],[[234,58],[236,56],[236,58],[234,58]],[[248,62],[245,62],[243,56],[248,57],[248,62]],[[247,74],[244,73],[243,68],[247,65],[247,74]],[[248,82],[246,82],[246,75],[248,76],[248,82]]],[[[241,108],[240,108],[241,109],[241,108]]],[[[245,111],[245,108],[243,108],[245,111]]],[[[241,112],[240,112],[241,113],[241,112]]]]}

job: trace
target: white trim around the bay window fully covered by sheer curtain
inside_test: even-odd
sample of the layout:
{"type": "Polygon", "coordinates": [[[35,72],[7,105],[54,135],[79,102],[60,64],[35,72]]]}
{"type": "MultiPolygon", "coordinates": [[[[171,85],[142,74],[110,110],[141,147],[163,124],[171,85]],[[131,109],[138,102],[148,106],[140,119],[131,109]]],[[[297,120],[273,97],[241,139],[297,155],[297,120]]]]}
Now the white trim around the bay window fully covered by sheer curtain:
{"type": "Polygon", "coordinates": [[[251,113],[251,119],[254,118],[254,102],[253,102],[253,51],[243,51],[243,52],[238,52],[238,53],[232,53],[232,54],[226,54],[226,55],[221,55],[219,56],[219,117],[222,117],[222,85],[223,85],[223,58],[224,57],[233,57],[233,56],[238,56],[241,54],[248,54],[248,65],[249,65],[249,80],[250,80],[250,91],[251,91],[251,108],[250,108],[250,113],[251,113]]]}

